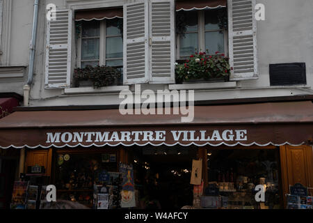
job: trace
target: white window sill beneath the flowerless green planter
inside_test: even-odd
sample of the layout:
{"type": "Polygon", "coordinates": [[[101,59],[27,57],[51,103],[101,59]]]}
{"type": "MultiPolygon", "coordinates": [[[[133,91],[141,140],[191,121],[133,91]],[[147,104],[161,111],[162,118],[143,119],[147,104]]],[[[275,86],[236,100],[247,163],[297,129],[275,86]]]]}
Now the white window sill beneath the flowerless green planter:
{"type": "Polygon", "coordinates": [[[104,86],[94,89],[92,86],[82,88],[64,89],[65,95],[85,94],[85,93],[120,93],[122,90],[129,90],[129,86],[104,86]]]}

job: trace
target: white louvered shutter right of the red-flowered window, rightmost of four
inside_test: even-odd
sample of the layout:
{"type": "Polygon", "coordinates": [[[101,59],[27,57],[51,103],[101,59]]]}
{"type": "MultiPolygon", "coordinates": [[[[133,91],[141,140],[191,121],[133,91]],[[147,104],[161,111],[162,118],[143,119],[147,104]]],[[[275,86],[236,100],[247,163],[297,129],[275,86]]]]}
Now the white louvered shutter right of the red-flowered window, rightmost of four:
{"type": "Polygon", "coordinates": [[[257,70],[257,26],[255,0],[227,0],[230,79],[256,79],[257,70]]]}

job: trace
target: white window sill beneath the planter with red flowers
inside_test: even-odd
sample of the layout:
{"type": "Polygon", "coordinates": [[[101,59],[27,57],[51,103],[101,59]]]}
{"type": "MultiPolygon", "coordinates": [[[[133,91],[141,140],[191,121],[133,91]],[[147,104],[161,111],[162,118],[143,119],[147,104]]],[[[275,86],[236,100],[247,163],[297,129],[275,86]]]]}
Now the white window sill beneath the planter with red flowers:
{"type": "Polygon", "coordinates": [[[236,82],[212,82],[197,84],[170,84],[169,90],[210,90],[210,89],[235,89],[236,82]]]}

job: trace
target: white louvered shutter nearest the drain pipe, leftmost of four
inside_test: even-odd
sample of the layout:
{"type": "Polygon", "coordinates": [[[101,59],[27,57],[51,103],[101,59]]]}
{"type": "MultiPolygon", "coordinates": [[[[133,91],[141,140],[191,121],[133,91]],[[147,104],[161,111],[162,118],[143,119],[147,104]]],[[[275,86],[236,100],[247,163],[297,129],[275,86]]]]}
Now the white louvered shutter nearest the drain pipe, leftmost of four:
{"type": "Polygon", "coordinates": [[[72,10],[57,10],[47,21],[46,88],[70,87],[72,10]]]}

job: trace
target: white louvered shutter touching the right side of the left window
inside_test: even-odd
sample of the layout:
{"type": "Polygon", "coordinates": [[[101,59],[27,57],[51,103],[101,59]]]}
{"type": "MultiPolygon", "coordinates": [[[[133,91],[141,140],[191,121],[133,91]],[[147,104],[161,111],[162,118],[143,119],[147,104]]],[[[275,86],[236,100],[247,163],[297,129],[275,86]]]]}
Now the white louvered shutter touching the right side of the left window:
{"type": "Polygon", "coordinates": [[[149,81],[149,5],[147,1],[124,6],[124,84],[149,81]]]}

